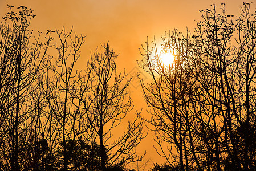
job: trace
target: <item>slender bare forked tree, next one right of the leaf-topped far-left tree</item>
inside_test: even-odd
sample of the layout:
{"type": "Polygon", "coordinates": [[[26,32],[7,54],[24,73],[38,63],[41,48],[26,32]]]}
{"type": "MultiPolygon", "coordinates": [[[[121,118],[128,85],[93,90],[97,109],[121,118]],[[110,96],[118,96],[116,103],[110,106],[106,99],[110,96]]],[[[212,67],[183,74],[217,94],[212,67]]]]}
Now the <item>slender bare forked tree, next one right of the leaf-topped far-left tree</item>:
{"type": "Polygon", "coordinates": [[[48,115],[53,116],[52,131],[60,137],[60,140],[57,140],[60,150],[58,162],[60,168],[68,170],[73,167],[69,161],[75,141],[88,128],[82,101],[91,88],[89,82],[91,68],[88,67],[85,76],[75,70],[75,63],[80,57],[80,48],[84,43],[85,36],[75,34],[74,38],[71,38],[72,30],[66,32],[64,27],[62,30],[57,30],[56,33],[60,42],[60,45],[56,46],[59,55],[56,59],[56,67],[52,67],[54,77],[49,77],[47,80],[45,91],[48,115]],[[67,147],[68,143],[71,145],[69,148],[67,147]]]}

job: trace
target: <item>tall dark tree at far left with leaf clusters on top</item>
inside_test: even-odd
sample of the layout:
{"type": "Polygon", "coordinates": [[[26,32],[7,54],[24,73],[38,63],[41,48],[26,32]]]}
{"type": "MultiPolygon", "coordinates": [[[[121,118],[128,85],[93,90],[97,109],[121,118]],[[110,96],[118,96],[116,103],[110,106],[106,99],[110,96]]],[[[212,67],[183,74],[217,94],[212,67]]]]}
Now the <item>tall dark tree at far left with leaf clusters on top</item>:
{"type": "Polygon", "coordinates": [[[31,9],[18,7],[15,13],[3,17],[10,23],[1,23],[1,167],[19,170],[20,136],[30,125],[30,103],[36,75],[45,67],[44,59],[51,37],[40,43],[40,34],[31,44],[29,25],[35,17],[31,9]]]}

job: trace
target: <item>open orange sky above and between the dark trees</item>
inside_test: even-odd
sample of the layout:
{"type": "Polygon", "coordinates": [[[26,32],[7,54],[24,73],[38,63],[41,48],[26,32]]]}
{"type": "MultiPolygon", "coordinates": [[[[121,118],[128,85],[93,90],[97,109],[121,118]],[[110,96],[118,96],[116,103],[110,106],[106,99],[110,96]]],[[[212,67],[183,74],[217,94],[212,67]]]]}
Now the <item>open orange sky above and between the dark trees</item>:
{"type": "MultiPolygon", "coordinates": [[[[255,0],[0,0],[0,16],[6,14],[7,4],[15,7],[25,5],[36,14],[31,23],[36,31],[46,32],[62,26],[70,29],[74,26],[76,33],[87,35],[79,62],[81,69],[90,56],[90,50],[109,41],[110,46],[120,54],[119,71],[125,68],[132,74],[140,71],[136,62],[141,59],[138,48],[147,36],[149,40],[153,36],[160,40],[165,31],[173,28],[184,31],[188,27],[193,30],[196,21],[200,20],[198,11],[209,8],[212,3],[217,5],[217,9],[220,9],[221,3],[226,3],[227,13],[237,15],[242,2],[254,2],[251,10],[256,10],[255,0]]],[[[136,79],[132,81],[131,96],[135,108],[143,108],[143,115],[147,115],[136,79]]],[[[147,150],[145,160],[150,158],[152,162],[164,162],[164,158],[157,156],[153,149],[151,137],[142,143],[138,151],[147,150]]],[[[151,166],[152,163],[147,168],[151,166]]]]}

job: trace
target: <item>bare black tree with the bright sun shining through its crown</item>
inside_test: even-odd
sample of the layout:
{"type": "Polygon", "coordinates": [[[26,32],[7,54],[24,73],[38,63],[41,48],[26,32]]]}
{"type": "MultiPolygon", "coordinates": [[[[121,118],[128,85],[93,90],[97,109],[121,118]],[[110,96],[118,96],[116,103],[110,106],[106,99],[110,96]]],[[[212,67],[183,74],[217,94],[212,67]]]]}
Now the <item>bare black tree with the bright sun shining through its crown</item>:
{"type": "Polygon", "coordinates": [[[153,82],[145,84],[139,77],[144,98],[148,106],[153,108],[153,111],[148,111],[152,117],[147,122],[154,126],[155,141],[160,146],[160,151],[157,152],[165,157],[170,165],[174,166],[178,161],[181,170],[189,168],[186,144],[188,144],[188,129],[192,119],[188,109],[190,101],[186,93],[193,85],[193,80],[183,58],[190,55],[189,32],[185,36],[180,37],[174,30],[162,37],[163,50],[170,51],[176,56],[171,66],[166,66],[162,62],[155,42],[153,42],[155,45],[153,51],[148,43],[143,46],[141,54],[144,60],[141,68],[152,76],[153,82]],[[166,143],[170,144],[168,148],[165,148],[166,143]]]}

